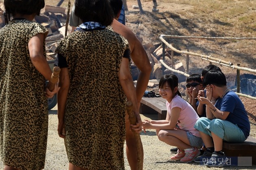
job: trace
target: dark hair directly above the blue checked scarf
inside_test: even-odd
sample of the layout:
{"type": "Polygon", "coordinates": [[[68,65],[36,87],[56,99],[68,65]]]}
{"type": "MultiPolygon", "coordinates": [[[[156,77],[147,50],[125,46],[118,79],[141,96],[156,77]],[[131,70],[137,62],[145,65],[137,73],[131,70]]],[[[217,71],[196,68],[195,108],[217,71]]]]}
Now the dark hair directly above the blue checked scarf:
{"type": "Polygon", "coordinates": [[[75,15],[82,22],[99,22],[103,26],[111,25],[114,19],[109,0],[76,0],[75,15]]]}

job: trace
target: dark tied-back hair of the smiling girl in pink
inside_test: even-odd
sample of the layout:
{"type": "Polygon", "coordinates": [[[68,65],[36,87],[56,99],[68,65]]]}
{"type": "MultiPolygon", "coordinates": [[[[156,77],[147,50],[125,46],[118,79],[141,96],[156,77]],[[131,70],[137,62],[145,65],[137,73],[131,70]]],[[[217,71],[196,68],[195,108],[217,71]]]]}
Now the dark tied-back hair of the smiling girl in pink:
{"type": "MultiPolygon", "coordinates": [[[[166,74],[163,75],[159,81],[159,88],[163,88],[165,86],[165,83],[167,82],[169,88],[174,92],[174,88],[178,87],[178,77],[174,74],[166,74]]],[[[181,94],[179,90],[175,93],[175,95],[178,94],[181,97],[181,94]]],[[[174,96],[175,96],[174,95],[174,96]]]]}

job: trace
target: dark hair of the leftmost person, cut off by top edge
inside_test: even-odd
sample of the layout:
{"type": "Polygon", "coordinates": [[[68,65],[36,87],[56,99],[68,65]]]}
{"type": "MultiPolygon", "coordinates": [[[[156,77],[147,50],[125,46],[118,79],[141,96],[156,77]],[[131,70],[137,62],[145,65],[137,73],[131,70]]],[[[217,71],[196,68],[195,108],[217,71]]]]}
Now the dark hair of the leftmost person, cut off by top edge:
{"type": "Polygon", "coordinates": [[[24,15],[35,13],[36,15],[39,15],[44,5],[44,0],[4,0],[4,8],[7,16],[5,19],[8,22],[8,20],[10,20],[10,15],[15,15],[17,13],[24,15]]]}

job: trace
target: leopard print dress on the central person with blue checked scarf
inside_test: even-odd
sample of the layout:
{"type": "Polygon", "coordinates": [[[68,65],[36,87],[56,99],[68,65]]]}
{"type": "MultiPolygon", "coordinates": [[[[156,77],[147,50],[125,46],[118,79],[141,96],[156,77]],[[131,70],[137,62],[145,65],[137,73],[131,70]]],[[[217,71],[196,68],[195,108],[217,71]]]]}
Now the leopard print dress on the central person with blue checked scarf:
{"type": "Polygon", "coordinates": [[[75,31],[56,52],[68,64],[65,110],[69,162],[90,170],[124,169],[125,95],[118,78],[128,42],[108,30],[75,31]]]}

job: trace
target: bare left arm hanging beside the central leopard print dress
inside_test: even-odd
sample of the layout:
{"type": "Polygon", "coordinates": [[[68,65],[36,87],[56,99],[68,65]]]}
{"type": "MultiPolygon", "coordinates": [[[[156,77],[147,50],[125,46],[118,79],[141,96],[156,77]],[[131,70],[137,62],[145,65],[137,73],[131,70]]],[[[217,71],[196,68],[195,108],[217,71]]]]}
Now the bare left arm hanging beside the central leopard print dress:
{"type": "Polygon", "coordinates": [[[58,133],[61,138],[64,138],[63,128],[64,128],[64,114],[66,108],[67,94],[69,91],[69,74],[67,68],[62,68],[59,75],[59,86],[61,87],[58,92],[58,133]]]}

